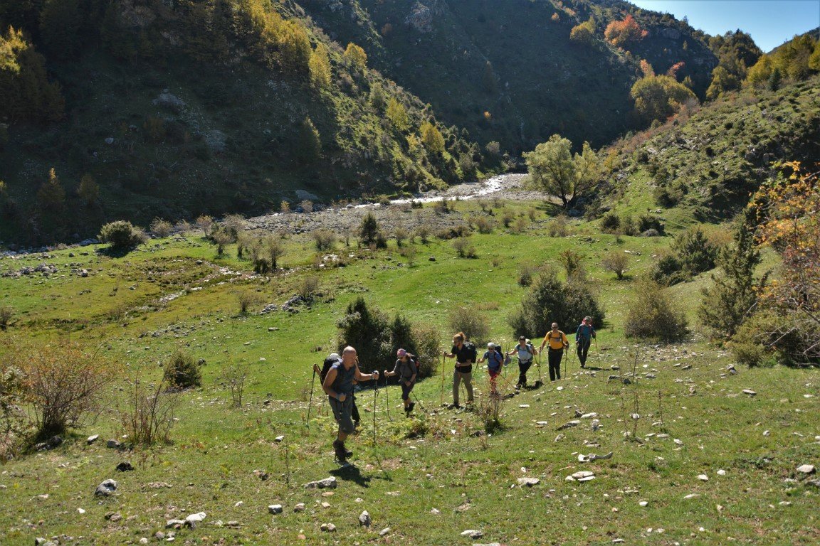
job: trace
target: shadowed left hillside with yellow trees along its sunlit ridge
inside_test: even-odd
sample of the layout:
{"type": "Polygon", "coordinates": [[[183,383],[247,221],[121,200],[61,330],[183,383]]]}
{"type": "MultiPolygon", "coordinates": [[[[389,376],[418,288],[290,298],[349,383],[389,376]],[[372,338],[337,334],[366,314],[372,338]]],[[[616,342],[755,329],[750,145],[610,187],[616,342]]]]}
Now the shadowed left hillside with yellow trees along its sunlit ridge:
{"type": "Polygon", "coordinates": [[[110,219],[262,213],[480,174],[477,146],[361,50],[330,41],[298,6],[264,5],[67,2],[40,17],[39,4],[2,2],[2,28],[25,34],[4,38],[0,238],[57,243],[110,219]],[[25,88],[52,85],[39,52],[65,103],[48,115],[25,88]],[[43,206],[49,169],[65,196],[43,206]],[[81,196],[83,178],[93,191],[81,196]]]}

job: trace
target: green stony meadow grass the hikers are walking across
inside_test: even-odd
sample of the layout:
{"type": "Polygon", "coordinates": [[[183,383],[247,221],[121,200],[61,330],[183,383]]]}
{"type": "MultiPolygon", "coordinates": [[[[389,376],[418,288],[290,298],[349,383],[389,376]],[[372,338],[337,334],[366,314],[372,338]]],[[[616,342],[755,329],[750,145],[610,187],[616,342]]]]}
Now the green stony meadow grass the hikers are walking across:
{"type": "MultiPolygon", "coordinates": [[[[524,211],[528,205],[510,206],[524,211]]],[[[459,202],[458,213],[477,206],[459,202]]],[[[84,345],[102,344],[103,354],[124,368],[121,377],[137,368],[144,368],[144,377],[158,377],[157,362],[178,348],[207,361],[203,388],[181,395],[173,444],[125,453],[105,447],[107,438],[122,433],[116,403],[122,403],[123,395],[117,382],[111,405],[96,423],[54,451],[5,463],[0,469],[0,484],[6,486],[0,494],[0,544],[30,544],[33,537],[52,535],[69,535],[80,544],[133,544],[143,537],[156,542],[152,535],[165,532],[167,519],[200,511],[207,512],[205,523],[180,530],[178,542],[610,544],[622,538],[627,544],[816,543],[818,491],[785,480],[795,477],[800,464],[818,463],[818,370],[739,368],[736,375],[726,374],[731,357],[709,345],[695,323],[699,288],[708,282],[708,273],[671,289],[694,327],[690,341],[656,347],[624,338],[623,308],[632,282],[605,273],[600,257],[611,249],[640,251],[631,255],[630,273],[636,276],[649,267],[655,251],[668,246],[670,237],[622,237],[618,243],[597,232],[595,223],[573,221],[570,237],[551,238],[539,214],[521,234],[497,229],[473,236],[476,259],[458,259],[449,241],[434,239],[426,246],[416,243],[412,266],[393,246],[376,255],[353,247],[349,252],[356,257],[347,267],[317,270],[307,237],[290,237],[281,262],[288,272],[267,279],[249,275],[249,263],[236,259],[235,249],[217,257],[212,246],[191,235],[151,241],[124,258],[69,258],[70,251],[78,250],[59,250],[48,259],[61,265],[61,273],[62,264],[81,262],[92,272],[89,278],[0,278],[0,305],[14,308],[18,319],[2,336],[40,343],[70,332],[71,339],[84,345]],[[364,296],[390,314],[438,327],[442,342],[453,333],[445,330],[449,311],[470,306],[487,314],[493,341],[506,346],[512,332],[505,318],[524,294],[517,285],[522,259],[560,267],[558,252],[568,248],[586,256],[590,283],[607,309],[608,327],[600,331],[599,350],[593,347],[589,361],[601,370],[582,371],[569,359],[562,390],[548,381],[505,401],[503,428],[482,436],[473,435],[485,429],[478,413],[417,412],[414,419],[404,419],[399,390],[390,387],[392,420],[388,392],[380,388],[375,393],[373,444],[374,391],[364,390],[358,395],[361,432],[348,442],[358,471],[335,471],[330,449],[335,423],[318,386],[309,428],[305,419],[312,363],[335,346],[335,323],[349,301],[364,296]],[[435,262],[427,259],[430,255],[435,262]],[[196,264],[199,259],[203,264],[196,264]],[[247,276],[211,278],[216,267],[247,276]],[[238,314],[236,291],[258,290],[264,303],[281,304],[305,274],[321,278],[324,294],[311,309],[238,314]],[[180,292],[175,300],[159,302],[180,292]],[[271,332],[271,327],[278,330],[271,332]],[[160,333],[155,337],[153,332],[160,333]],[[639,377],[656,377],[640,377],[631,386],[608,381],[610,374],[628,373],[635,350],[639,377]],[[246,404],[235,409],[218,377],[226,363],[240,361],[248,363],[251,376],[246,404]],[[613,365],[621,371],[611,371],[613,365]],[[747,388],[758,395],[741,394],[747,388]],[[271,404],[263,404],[268,399],[271,404]],[[576,408],[598,413],[600,430],[591,431],[590,419],[583,419],[581,426],[556,431],[575,418],[576,408]],[[640,419],[635,422],[630,413],[639,413],[640,419]],[[538,421],[549,424],[537,426],[538,421]],[[633,426],[640,442],[624,435],[633,426]],[[409,438],[412,429],[426,433],[409,438]],[[763,435],[767,430],[769,435],[763,435]],[[84,437],[93,433],[101,440],[87,446],[84,437]],[[563,439],[555,441],[559,434],[563,439]],[[277,435],[285,440],[277,443],[277,435]],[[577,453],[608,451],[614,453],[611,460],[577,462],[577,453]],[[115,472],[122,460],[130,460],[136,470],[115,472]],[[257,469],[270,478],[260,480],[253,474],[257,469]],[[565,481],[579,470],[592,470],[596,479],[565,481]],[[718,476],[718,470],[727,473],[718,476]],[[698,480],[701,473],[709,476],[708,482],[698,480]],[[307,481],[332,474],[339,487],[331,496],[303,489],[307,481]],[[532,489],[511,487],[522,476],[541,482],[532,489]],[[95,499],[94,487],[107,478],[119,482],[117,495],[95,499]],[[172,487],[148,487],[157,481],[172,487]],[[48,499],[38,499],[40,494],[48,499]],[[688,494],[698,496],[685,499],[688,494]],[[641,508],[644,500],[649,504],[641,508]],[[244,504],[235,506],[239,501],[244,504]],[[322,508],[322,502],[330,507],[322,508]],[[269,515],[266,507],[273,503],[283,504],[285,513],[269,515]],[[306,511],[294,512],[296,503],[305,503],[306,511]],[[430,513],[432,508],[440,513],[430,513]],[[358,526],[362,510],[371,513],[372,530],[358,526]],[[107,521],[107,512],[119,512],[123,519],[107,521]],[[229,529],[215,526],[216,521],[239,521],[241,526],[229,529]],[[321,532],[325,522],[338,526],[335,535],[321,532]],[[391,530],[380,537],[378,531],[385,527],[391,530]],[[462,537],[467,529],[483,530],[484,537],[462,537]]],[[[2,259],[0,270],[42,261],[39,256],[2,259]]],[[[570,325],[562,326],[572,331],[570,325]]],[[[448,376],[449,369],[448,363],[448,376]]],[[[508,381],[514,381],[515,373],[508,370],[508,381]]],[[[537,377],[537,370],[529,375],[537,377]]],[[[449,385],[444,393],[441,385],[436,375],[417,386],[428,410],[438,409],[442,399],[449,401],[449,385]]],[[[506,383],[503,389],[510,390],[506,383]]],[[[485,404],[489,389],[483,371],[476,373],[476,390],[478,404],[485,404]]],[[[65,543],[71,541],[61,539],[65,543]]]]}

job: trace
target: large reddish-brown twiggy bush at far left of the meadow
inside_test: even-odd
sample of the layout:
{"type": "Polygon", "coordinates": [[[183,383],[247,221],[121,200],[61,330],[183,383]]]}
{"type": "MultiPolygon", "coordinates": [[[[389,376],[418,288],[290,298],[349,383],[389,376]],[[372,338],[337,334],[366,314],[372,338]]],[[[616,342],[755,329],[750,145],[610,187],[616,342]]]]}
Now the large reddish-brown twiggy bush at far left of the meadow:
{"type": "Polygon", "coordinates": [[[60,341],[21,354],[23,392],[32,407],[36,439],[80,428],[95,415],[113,368],[75,343],[60,341]]]}

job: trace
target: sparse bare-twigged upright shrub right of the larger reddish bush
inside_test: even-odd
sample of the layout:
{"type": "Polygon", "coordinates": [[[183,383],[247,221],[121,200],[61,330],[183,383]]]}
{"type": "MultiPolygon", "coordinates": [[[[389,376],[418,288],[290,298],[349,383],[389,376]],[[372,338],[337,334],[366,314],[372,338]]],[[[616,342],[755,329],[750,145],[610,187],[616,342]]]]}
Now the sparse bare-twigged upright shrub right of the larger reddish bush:
{"type": "Polygon", "coordinates": [[[156,385],[141,381],[139,373],[130,381],[132,389],[120,407],[120,422],[134,444],[150,446],[171,442],[171,428],[179,397],[169,392],[163,379],[156,385]]]}

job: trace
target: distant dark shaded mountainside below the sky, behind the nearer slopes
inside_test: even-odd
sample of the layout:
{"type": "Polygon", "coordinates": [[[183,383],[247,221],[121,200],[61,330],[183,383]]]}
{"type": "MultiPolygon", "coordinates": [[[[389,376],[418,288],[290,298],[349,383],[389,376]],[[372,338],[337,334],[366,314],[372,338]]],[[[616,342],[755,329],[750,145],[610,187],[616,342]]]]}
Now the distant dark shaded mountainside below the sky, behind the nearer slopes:
{"type": "Polygon", "coordinates": [[[482,143],[530,150],[553,133],[595,147],[640,127],[629,91],[638,60],[659,73],[683,62],[703,96],[717,65],[703,34],[628,2],[578,0],[306,0],[303,7],[339,40],[364,47],[376,65],[482,143]],[[604,28],[634,14],[646,38],[626,49],[604,28]],[[594,20],[590,43],[570,39],[594,20]]]}

